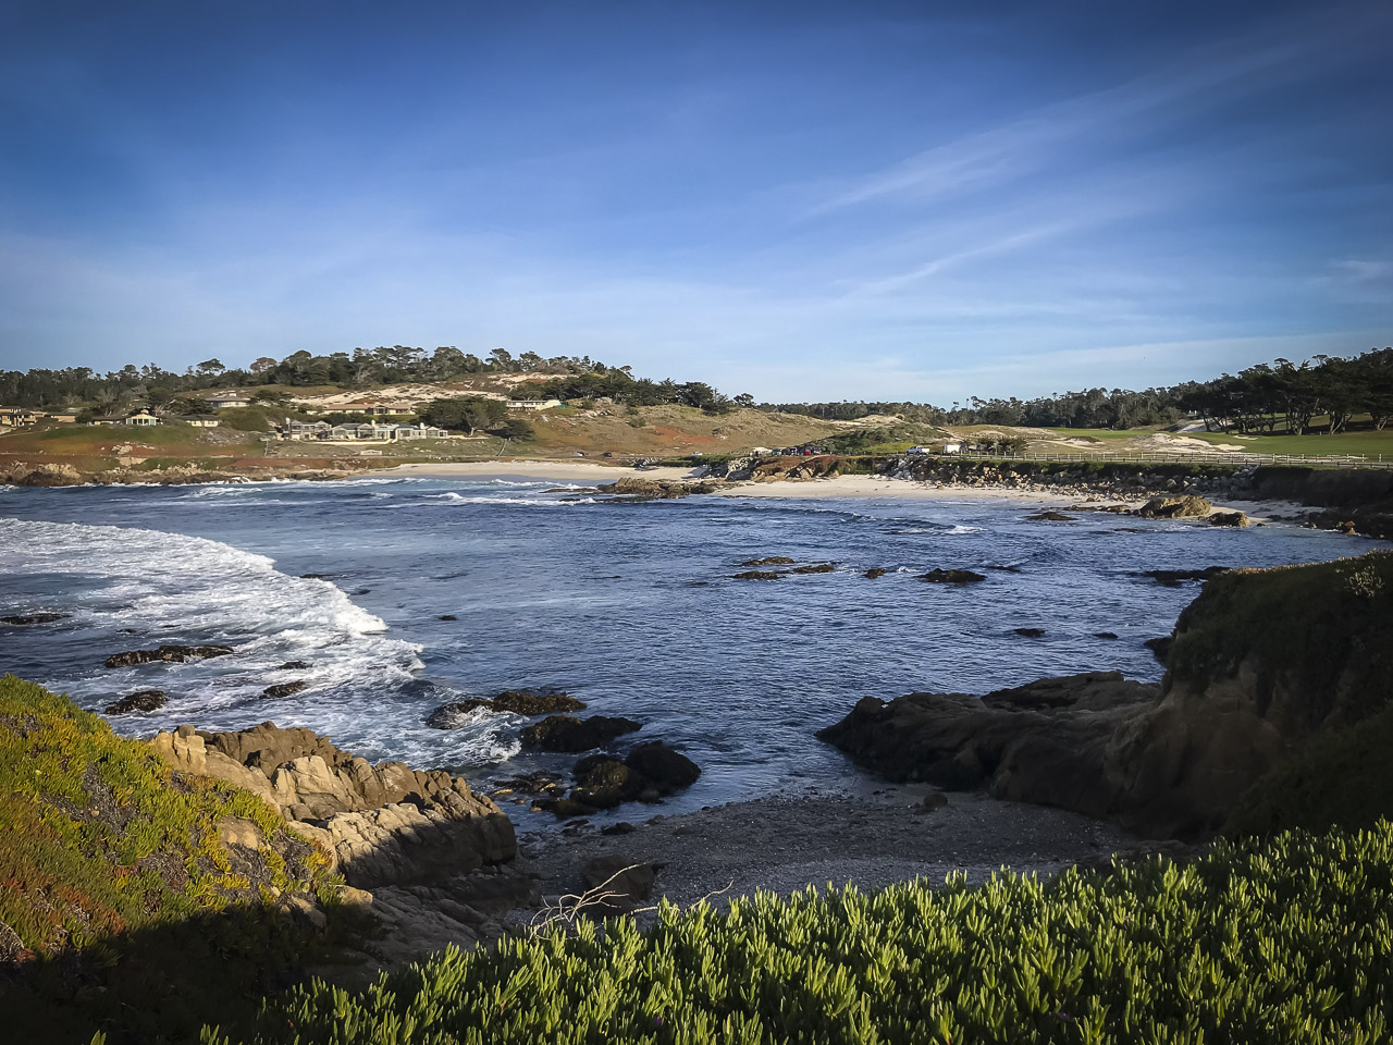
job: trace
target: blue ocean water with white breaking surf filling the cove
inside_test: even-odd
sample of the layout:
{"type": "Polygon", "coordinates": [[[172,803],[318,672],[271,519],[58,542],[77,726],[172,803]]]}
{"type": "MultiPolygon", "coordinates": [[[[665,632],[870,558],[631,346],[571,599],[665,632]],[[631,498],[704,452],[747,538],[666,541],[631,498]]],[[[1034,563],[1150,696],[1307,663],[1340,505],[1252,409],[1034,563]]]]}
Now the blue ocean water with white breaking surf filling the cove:
{"type": "Polygon", "coordinates": [[[614,504],[547,492],[559,485],[0,488],[0,616],[67,614],[0,626],[0,670],[98,711],[135,690],[166,691],[162,711],[113,719],[131,736],[273,719],[373,761],[475,779],[574,757],[521,751],[527,722],[511,715],[476,712],[435,730],[429,712],[507,688],[564,690],[585,713],[644,723],[618,747],[663,738],[703,768],[669,800],[678,811],[844,776],[844,758],[812,734],[861,697],[985,692],[1109,669],[1158,679],[1142,642],[1170,631],[1198,585],[1165,588],[1141,570],[1316,562],[1372,546],[1284,524],[1238,531],[1094,513],[1031,522],[1036,507],[1007,500],[614,504]],[[731,580],[737,563],[769,555],[837,568],[731,580]],[[869,567],[890,573],[866,580],[869,567]],[[988,580],[915,580],[932,567],[988,580]],[[1015,635],[1022,627],[1045,635],[1015,635]],[[164,642],[237,653],[103,666],[164,642]],[[281,667],[293,660],[311,666],[281,667]],[[308,688],[260,697],[294,680],[308,688]]]}

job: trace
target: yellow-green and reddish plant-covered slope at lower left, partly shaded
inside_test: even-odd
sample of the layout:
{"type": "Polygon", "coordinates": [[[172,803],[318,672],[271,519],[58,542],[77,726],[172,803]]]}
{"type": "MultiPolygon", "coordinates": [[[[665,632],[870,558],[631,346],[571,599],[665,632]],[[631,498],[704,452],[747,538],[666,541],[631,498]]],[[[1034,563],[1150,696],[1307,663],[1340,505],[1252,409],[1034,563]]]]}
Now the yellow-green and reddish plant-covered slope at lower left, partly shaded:
{"type": "Polygon", "coordinates": [[[288,985],[352,932],[327,868],[249,791],[174,772],[68,698],[0,677],[0,1005],[14,1041],[188,1039],[288,985]]]}

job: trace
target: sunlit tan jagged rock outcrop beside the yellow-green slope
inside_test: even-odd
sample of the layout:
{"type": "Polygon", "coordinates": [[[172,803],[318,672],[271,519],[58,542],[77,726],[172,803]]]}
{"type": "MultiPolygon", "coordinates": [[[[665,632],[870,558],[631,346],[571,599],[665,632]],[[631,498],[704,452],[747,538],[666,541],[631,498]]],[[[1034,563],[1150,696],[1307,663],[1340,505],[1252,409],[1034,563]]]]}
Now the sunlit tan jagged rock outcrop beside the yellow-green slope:
{"type": "Polygon", "coordinates": [[[513,823],[462,777],[401,762],[371,765],[308,729],[240,733],[180,726],[155,751],[177,769],[244,787],[332,854],[361,889],[411,885],[510,860],[513,823]]]}

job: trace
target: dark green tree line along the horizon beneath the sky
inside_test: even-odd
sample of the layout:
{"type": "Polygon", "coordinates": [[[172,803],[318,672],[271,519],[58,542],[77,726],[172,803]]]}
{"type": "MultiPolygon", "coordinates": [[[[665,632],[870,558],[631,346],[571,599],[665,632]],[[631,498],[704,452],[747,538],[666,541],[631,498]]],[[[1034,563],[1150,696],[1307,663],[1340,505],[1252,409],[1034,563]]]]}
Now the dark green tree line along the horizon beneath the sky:
{"type": "MultiPolygon", "coordinates": [[[[1305,433],[1312,431],[1316,418],[1326,418],[1326,432],[1346,431],[1354,417],[1365,414],[1382,431],[1393,418],[1393,348],[1375,348],[1350,358],[1316,355],[1301,364],[1275,359],[1237,375],[1223,373],[1212,380],[1142,392],[1095,387],[1029,400],[974,396],[965,404],[939,407],[864,400],[756,404],[752,396],[727,396],[706,382],[635,378],[631,366],[610,366],[588,355],[545,358],[536,353],[521,353],[514,357],[504,348],[495,348],[481,358],[453,346],[428,353],[398,344],[329,355],[297,351],[283,359],[265,355],[247,368],[228,368],[219,359],[206,359],[182,373],[155,364],[127,365],[109,373],[86,366],[4,371],[0,372],[0,405],[52,410],[85,404],[106,412],[135,401],[160,407],[206,389],[371,389],[405,382],[442,383],[475,373],[529,375],[528,382],[513,390],[520,398],[603,400],[627,407],[677,404],[708,414],[755,407],[826,421],[855,421],[883,414],[931,425],[1127,429],[1199,417],[1211,431],[1247,433],[1282,428],[1305,433]]],[[[263,397],[272,398],[273,394],[263,397]]]]}

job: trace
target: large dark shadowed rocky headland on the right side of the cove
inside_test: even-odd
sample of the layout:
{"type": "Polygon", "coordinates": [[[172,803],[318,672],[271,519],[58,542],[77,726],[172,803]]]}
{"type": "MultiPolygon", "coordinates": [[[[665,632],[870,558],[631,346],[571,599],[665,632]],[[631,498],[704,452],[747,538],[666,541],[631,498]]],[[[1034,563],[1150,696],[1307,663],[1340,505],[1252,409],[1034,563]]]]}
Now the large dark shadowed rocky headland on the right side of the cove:
{"type": "Polygon", "coordinates": [[[1205,837],[1314,737],[1393,706],[1393,555],[1216,575],[1166,663],[1160,687],[1109,673],[868,697],[819,736],[892,779],[1205,837]]]}

